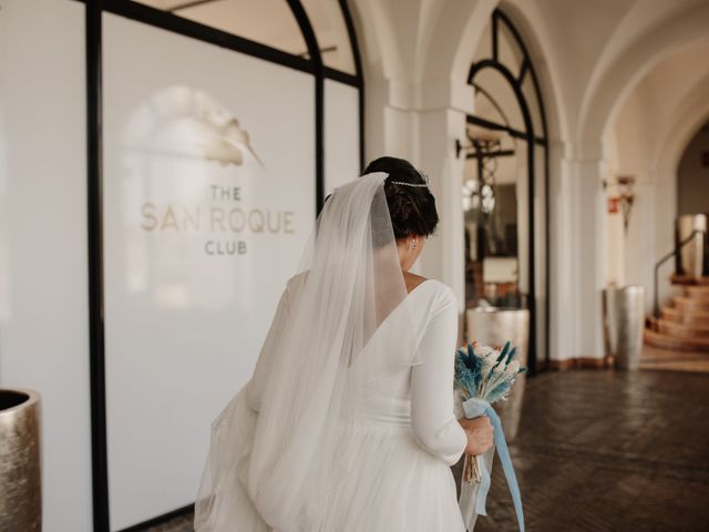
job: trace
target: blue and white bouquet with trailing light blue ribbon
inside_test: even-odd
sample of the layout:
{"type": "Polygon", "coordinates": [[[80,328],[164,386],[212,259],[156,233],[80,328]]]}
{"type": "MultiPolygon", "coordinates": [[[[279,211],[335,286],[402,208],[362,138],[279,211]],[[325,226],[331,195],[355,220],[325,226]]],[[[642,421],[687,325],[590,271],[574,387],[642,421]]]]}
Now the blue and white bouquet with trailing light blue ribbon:
{"type": "MultiPolygon", "coordinates": [[[[493,402],[506,400],[516,376],[527,370],[527,368],[520,365],[518,360],[514,360],[516,348],[511,347],[508,341],[502,350],[489,346],[479,346],[477,344],[469,344],[467,348],[458,349],[455,351],[454,386],[455,390],[462,396],[463,411],[467,419],[476,418],[483,413],[490,417],[494,429],[497,453],[500,454],[517,512],[520,530],[524,530],[520,488],[500,418],[491,407],[493,402]]],[[[465,454],[463,481],[467,484],[480,484],[475,511],[479,514],[486,515],[485,499],[490,490],[490,471],[487,471],[481,456],[469,457],[465,454]]]]}

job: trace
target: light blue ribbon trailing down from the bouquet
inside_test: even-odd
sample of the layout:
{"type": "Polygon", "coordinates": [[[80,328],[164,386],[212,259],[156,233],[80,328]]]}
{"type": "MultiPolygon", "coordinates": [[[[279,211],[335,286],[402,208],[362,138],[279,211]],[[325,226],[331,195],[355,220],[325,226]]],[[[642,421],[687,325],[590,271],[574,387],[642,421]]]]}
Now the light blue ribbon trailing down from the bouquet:
{"type": "MultiPolygon", "coordinates": [[[[502,462],[502,469],[505,472],[505,479],[507,479],[507,485],[510,487],[510,493],[512,494],[512,502],[514,503],[514,510],[517,514],[517,525],[520,531],[524,532],[524,513],[522,512],[522,497],[520,495],[520,484],[517,484],[517,478],[514,474],[514,468],[512,467],[512,459],[510,458],[510,450],[507,449],[507,441],[505,434],[502,431],[502,423],[497,412],[490,406],[490,402],[477,397],[472,397],[463,402],[463,409],[465,417],[469,419],[476,418],[485,413],[490,418],[490,422],[493,427],[495,447],[497,448],[497,454],[502,462]]],[[[475,458],[473,458],[475,460],[475,458]]],[[[485,500],[487,499],[487,492],[490,491],[490,471],[487,471],[487,463],[484,460],[479,460],[481,466],[481,481],[477,489],[477,498],[475,500],[475,513],[481,515],[487,515],[485,511],[485,500]]]]}

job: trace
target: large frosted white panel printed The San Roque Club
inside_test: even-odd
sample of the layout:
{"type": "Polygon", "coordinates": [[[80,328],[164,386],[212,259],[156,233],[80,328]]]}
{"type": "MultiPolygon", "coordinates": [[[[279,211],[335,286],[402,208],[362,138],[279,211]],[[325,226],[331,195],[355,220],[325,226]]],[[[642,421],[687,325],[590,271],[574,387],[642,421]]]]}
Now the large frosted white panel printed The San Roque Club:
{"type": "Polygon", "coordinates": [[[194,502],[209,426],[250,377],[315,217],[315,86],[292,69],[103,20],[119,530],[194,502]]]}

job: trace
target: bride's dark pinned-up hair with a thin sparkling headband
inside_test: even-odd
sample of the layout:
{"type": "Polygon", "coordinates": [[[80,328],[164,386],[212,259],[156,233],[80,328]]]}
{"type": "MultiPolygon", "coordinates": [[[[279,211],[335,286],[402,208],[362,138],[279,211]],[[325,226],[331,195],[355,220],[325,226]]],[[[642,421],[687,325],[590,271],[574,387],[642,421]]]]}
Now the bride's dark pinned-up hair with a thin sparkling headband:
{"type": "Polygon", "coordinates": [[[411,234],[429,236],[435,231],[439,214],[435,211],[435,198],[427,186],[407,186],[392,183],[425,183],[423,174],[404,158],[379,157],[364,168],[364,174],[384,172],[384,194],[389,205],[391,225],[395,238],[404,238],[411,234]]]}

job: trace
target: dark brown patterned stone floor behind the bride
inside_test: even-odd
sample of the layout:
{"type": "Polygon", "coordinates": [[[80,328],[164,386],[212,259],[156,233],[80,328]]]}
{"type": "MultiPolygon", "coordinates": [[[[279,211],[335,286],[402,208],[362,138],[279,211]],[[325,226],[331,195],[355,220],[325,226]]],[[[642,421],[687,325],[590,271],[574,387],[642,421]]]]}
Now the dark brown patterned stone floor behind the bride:
{"type": "MultiPolygon", "coordinates": [[[[530,532],[709,531],[709,374],[542,374],[510,450],[530,532]]],[[[188,530],[185,516],[152,532],[188,530]]],[[[495,457],[475,532],[515,530],[495,457]]]]}

